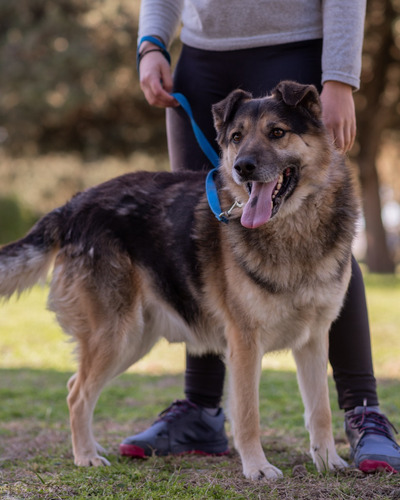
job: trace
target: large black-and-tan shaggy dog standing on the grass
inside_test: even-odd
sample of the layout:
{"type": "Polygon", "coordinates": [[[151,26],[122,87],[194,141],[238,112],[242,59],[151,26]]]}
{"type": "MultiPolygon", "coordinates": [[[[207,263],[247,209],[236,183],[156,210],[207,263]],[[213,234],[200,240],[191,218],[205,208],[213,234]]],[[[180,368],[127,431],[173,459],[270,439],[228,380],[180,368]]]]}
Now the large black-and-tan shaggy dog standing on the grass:
{"type": "Polygon", "coordinates": [[[350,277],[358,202],[321,123],[316,89],[282,82],[213,107],[222,150],[212,215],[203,173],[127,174],[76,195],[0,251],[0,295],[46,277],[49,307],[77,343],[68,382],[77,465],[108,464],[91,421],[107,381],[165,337],[221,353],[234,443],[247,478],[281,471],[260,443],[265,352],[292,349],[318,468],[345,466],[331,429],[328,330],[350,277]]]}

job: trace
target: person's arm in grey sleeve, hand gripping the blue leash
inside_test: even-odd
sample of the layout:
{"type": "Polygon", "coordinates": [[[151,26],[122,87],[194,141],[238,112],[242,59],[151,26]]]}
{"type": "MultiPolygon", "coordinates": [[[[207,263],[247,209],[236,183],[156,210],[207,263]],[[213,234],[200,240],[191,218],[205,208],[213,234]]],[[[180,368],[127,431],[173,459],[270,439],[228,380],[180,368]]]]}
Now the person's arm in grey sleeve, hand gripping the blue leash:
{"type": "MultiPolygon", "coordinates": [[[[154,36],[166,47],[176,32],[180,21],[183,0],[142,0],[139,16],[138,44],[143,36],[154,36]]],[[[138,47],[140,87],[147,102],[152,106],[177,106],[171,97],[171,67],[158,47],[144,41],[138,47]]]]}

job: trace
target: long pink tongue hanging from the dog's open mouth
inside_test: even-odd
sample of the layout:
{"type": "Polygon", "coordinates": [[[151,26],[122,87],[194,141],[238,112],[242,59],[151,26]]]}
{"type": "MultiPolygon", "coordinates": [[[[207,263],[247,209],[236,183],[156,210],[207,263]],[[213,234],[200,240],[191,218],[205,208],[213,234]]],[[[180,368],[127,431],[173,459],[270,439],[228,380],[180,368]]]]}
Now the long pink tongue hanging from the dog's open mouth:
{"type": "Polygon", "coordinates": [[[249,229],[260,227],[271,218],[272,193],[277,181],[253,182],[250,199],[246,203],[240,222],[249,229]]]}

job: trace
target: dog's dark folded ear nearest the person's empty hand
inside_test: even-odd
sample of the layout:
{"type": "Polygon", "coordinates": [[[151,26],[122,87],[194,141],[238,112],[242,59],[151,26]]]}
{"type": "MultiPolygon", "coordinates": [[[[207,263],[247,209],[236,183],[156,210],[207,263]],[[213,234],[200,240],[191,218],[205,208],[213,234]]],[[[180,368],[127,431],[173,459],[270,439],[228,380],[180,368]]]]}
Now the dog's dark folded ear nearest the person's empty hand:
{"type": "Polygon", "coordinates": [[[300,106],[306,109],[317,120],[321,118],[321,101],[314,85],[284,81],[278,83],[272,91],[272,95],[288,106],[300,106]]]}

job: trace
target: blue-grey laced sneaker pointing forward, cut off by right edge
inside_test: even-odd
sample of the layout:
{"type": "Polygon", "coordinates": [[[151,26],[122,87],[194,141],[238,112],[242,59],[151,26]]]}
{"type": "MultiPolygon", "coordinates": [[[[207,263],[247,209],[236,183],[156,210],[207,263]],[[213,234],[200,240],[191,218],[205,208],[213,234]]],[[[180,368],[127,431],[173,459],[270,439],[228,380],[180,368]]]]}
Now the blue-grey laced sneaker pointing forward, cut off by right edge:
{"type": "Polygon", "coordinates": [[[357,406],[345,414],[345,430],[351,457],[362,472],[400,470],[400,447],[396,429],[377,406],[357,406]]]}

